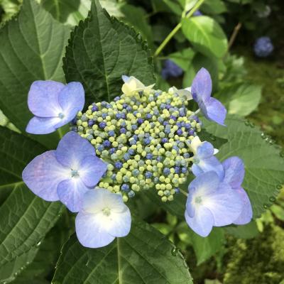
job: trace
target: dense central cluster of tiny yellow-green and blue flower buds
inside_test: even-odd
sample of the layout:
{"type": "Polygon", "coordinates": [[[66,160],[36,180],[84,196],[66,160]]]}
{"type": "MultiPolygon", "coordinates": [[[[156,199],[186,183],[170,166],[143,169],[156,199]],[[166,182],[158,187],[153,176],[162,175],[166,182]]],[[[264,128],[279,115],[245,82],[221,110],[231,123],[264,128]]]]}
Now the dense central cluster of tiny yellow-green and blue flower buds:
{"type": "Polygon", "coordinates": [[[99,187],[122,192],[125,201],[155,187],[164,202],[173,200],[186,181],[190,143],[201,129],[187,104],[187,97],[173,88],[148,89],[122,94],[114,102],[94,103],[77,114],[72,130],[109,163],[99,187]]]}

